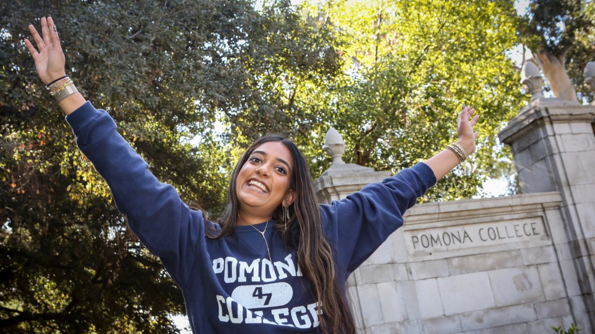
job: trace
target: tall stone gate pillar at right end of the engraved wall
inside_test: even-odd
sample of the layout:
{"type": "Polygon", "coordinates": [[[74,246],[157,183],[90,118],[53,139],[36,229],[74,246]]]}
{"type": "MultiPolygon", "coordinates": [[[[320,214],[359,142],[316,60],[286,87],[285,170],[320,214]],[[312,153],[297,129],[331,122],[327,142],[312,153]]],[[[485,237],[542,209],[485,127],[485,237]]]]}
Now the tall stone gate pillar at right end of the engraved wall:
{"type": "Polygon", "coordinates": [[[563,257],[572,259],[584,305],[572,310],[595,328],[595,106],[536,99],[500,134],[512,147],[522,193],[559,191],[563,235],[552,235],[563,257]],[[586,313],[586,314],[585,314],[586,313]]]}

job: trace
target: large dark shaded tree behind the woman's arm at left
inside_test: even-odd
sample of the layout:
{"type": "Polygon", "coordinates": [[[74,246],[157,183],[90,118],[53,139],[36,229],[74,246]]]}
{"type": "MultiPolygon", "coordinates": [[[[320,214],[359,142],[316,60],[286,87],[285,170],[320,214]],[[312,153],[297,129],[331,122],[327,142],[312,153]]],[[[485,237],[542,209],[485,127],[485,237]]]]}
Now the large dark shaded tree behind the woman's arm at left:
{"type": "Polygon", "coordinates": [[[126,228],[24,48],[27,23],[46,14],[83,95],[114,117],[156,177],[215,212],[232,163],[227,136],[213,131],[218,115],[242,127],[247,107],[281,108],[278,92],[259,87],[271,69],[332,75],[330,34],[288,2],[0,5],[0,331],[176,332],[179,289],[126,228]]]}

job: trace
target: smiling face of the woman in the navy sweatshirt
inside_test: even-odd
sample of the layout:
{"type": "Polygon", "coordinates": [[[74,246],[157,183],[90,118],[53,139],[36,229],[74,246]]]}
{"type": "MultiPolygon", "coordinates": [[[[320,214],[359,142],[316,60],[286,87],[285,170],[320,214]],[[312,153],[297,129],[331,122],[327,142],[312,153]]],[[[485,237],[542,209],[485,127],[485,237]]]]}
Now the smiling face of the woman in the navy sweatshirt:
{"type": "Polygon", "coordinates": [[[289,206],[294,196],[289,189],[292,173],[292,154],[283,143],[267,141],[257,146],[237,175],[240,210],[270,219],[281,201],[289,206]]]}

